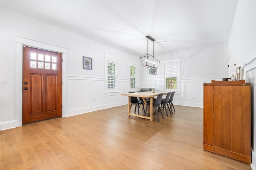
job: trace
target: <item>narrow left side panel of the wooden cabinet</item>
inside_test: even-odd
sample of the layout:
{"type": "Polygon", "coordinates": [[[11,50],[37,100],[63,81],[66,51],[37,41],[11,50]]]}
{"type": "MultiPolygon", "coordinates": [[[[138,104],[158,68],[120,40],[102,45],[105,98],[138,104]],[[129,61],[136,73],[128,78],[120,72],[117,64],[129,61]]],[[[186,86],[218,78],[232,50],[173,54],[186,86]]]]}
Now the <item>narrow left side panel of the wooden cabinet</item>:
{"type": "Polygon", "coordinates": [[[204,85],[204,144],[213,145],[213,86],[204,85]]]}

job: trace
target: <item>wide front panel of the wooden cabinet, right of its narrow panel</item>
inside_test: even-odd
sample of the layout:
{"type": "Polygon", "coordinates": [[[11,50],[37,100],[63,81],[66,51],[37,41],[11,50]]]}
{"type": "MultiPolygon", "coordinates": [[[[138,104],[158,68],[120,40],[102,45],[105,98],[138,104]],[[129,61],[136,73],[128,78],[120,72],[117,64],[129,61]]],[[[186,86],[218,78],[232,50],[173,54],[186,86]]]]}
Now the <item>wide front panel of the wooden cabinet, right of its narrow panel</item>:
{"type": "Polygon", "coordinates": [[[250,155],[250,86],[214,86],[214,146],[250,155]]]}

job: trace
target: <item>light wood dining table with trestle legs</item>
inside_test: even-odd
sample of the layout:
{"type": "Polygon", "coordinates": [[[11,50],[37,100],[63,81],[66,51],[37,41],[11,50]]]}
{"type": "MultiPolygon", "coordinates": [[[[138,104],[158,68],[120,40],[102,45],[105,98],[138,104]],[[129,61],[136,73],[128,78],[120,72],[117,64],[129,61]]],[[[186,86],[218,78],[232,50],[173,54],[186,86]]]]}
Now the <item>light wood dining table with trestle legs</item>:
{"type": "Polygon", "coordinates": [[[128,96],[128,116],[130,117],[135,116],[135,117],[141,117],[144,119],[150,119],[150,121],[153,121],[153,99],[154,97],[158,96],[160,93],[163,93],[163,95],[166,95],[170,91],[143,91],[143,92],[135,92],[135,93],[122,93],[121,95],[123,96],[128,96]],[[131,113],[131,97],[141,97],[142,100],[144,101],[145,104],[148,104],[146,101],[146,98],[150,99],[150,116],[144,115],[136,115],[134,113],[131,113]]]}

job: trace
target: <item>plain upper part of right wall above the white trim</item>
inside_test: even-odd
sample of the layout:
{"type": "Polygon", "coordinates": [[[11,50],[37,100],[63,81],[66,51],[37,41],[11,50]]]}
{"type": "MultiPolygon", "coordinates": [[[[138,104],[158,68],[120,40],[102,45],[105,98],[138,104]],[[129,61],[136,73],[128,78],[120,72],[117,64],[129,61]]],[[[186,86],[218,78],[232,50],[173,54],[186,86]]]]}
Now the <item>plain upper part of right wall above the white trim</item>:
{"type": "MultiPolygon", "coordinates": [[[[243,65],[255,57],[255,1],[238,1],[229,39],[230,63],[243,65]]],[[[232,67],[233,68],[233,67],[232,67]]]]}

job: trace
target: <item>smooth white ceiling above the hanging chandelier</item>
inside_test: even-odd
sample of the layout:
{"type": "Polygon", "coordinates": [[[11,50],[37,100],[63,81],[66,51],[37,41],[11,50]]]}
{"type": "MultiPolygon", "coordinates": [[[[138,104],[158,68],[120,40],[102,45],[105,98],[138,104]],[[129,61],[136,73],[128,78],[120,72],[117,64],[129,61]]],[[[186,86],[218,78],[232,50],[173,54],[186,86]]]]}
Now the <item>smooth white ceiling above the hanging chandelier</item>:
{"type": "Polygon", "coordinates": [[[237,0],[1,0],[0,5],[134,55],[227,42],[237,0]],[[159,43],[166,41],[166,43],[159,43]],[[152,42],[148,42],[149,48],[152,42]]]}

